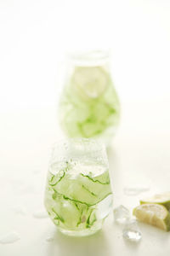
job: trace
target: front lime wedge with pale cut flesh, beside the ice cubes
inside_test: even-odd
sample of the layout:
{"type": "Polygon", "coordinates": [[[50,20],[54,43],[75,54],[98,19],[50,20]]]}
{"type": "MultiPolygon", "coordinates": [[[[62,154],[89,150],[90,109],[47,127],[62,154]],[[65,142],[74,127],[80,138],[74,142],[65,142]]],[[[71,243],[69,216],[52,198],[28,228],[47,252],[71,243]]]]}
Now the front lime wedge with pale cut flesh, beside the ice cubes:
{"type": "Polygon", "coordinates": [[[170,230],[170,213],[166,207],[157,204],[144,204],[133,209],[133,215],[140,221],[161,230],[170,230]]]}

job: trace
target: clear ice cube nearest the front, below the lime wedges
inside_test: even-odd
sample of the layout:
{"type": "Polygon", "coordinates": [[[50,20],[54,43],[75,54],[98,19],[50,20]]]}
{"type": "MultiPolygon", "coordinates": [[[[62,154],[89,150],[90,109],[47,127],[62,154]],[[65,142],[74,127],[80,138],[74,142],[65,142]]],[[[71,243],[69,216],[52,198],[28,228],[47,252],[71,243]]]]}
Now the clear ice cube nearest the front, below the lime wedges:
{"type": "Polygon", "coordinates": [[[122,230],[122,236],[128,241],[140,241],[142,234],[136,220],[129,221],[122,230]]]}

